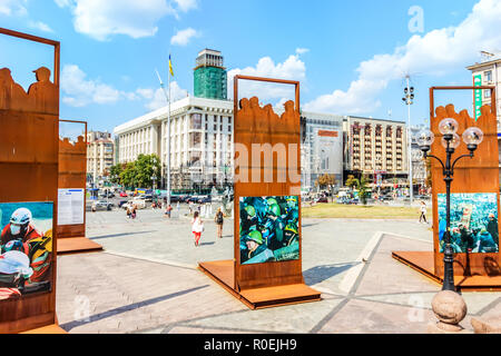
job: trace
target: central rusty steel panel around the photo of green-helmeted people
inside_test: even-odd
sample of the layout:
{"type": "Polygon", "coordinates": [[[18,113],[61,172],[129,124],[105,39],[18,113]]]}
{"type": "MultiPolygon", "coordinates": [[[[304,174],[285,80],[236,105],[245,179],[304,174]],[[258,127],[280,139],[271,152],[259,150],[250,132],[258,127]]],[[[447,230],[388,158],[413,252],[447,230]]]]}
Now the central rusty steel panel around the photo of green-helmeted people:
{"type": "MultiPolygon", "coordinates": [[[[299,82],[292,80],[235,76],[234,78],[234,117],[235,117],[235,184],[234,184],[234,289],[244,290],[279,285],[304,284],[302,273],[302,226],[301,226],[301,119],[299,119],[299,82]],[[278,117],[271,105],[259,106],[256,97],[238,100],[238,81],[261,81],[295,86],[295,103],[285,103],[285,112],[278,117]],[[297,150],[289,157],[287,164],[278,165],[278,157],[274,155],[272,166],[258,165],[253,167],[252,144],[272,147],[283,144],[286,148],[296,145],[297,150]],[[238,165],[237,147],[245,147],[248,152],[248,165],[238,165]],[[291,165],[289,161],[293,161],[291,165]],[[254,170],[253,170],[254,169],[254,170]],[[285,171],[285,181],[277,182],[278,175],[285,171]],[[253,182],[253,171],[258,172],[261,181],[253,182]],[[292,181],[289,172],[299,177],[298,181],[292,181]],[[272,182],[264,182],[264,177],[273,174],[272,182]],[[237,179],[238,177],[238,179],[237,179]],[[246,177],[247,179],[242,179],[246,177]],[[246,181],[243,181],[246,180],[246,181]],[[287,261],[269,261],[263,264],[242,265],[239,250],[239,199],[240,197],[271,197],[271,196],[297,196],[298,197],[298,234],[299,258],[287,261]]],[[[264,161],[262,157],[259,162],[264,161]]],[[[283,177],[283,176],[282,176],[283,177]]]]}

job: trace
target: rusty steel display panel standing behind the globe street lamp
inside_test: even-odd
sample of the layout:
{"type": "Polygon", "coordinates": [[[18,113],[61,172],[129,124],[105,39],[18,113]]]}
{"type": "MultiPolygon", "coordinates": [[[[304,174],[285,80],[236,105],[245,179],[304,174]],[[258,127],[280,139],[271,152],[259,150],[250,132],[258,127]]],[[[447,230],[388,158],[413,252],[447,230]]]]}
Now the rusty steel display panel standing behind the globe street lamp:
{"type": "MultiPolygon", "coordinates": [[[[463,158],[454,167],[454,176],[451,185],[451,195],[465,192],[487,192],[495,194],[499,207],[499,150],[498,150],[498,125],[495,112],[495,90],[494,87],[432,87],[430,88],[430,123],[431,131],[435,135],[435,140],[431,147],[431,155],[445,161],[445,149],[442,147],[442,134],[439,131],[439,123],[444,118],[453,118],[458,121],[458,135],[461,136],[469,127],[478,127],[483,134],[483,141],[474,151],[473,158],[463,158]],[[481,116],[477,119],[471,118],[468,110],[455,111],[453,105],[445,107],[434,107],[435,90],[479,90],[491,91],[491,105],[484,105],[481,108],[481,116]]],[[[469,155],[470,151],[464,142],[461,142],[453,154],[452,159],[461,155],[469,155]]],[[[438,195],[445,194],[445,182],[442,175],[442,166],[435,159],[431,159],[432,172],[432,202],[433,202],[433,248],[434,248],[434,269],[435,274],[443,276],[444,264],[443,254],[440,253],[439,240],[439,207],[438,195]]],[[[498,226],[499,229],[499,226],[498,226]]],[[[454,275],[455,276],[495,276],[500,274],[500,254],[498,253],[468,253],[454,254],[454,275]]]]}

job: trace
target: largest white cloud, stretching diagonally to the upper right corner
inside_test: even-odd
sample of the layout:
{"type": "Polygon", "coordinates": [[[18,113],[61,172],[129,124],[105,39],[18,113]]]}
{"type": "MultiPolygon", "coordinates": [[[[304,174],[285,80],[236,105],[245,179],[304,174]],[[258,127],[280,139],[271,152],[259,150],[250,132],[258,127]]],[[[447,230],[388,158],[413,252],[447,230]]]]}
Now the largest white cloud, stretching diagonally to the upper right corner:
{"type": "Polygon", "coordinates": [[[358,78],[346,91],[334,90],[304,106],[305,110],[338,113],[370,112],[379,93],[405,73],[443,75],[473,63],[480,50],[501,48],[501,2],[481,0],[458,27],[413,36],[393,53],[376,55],[357,68],[358,78]]]}

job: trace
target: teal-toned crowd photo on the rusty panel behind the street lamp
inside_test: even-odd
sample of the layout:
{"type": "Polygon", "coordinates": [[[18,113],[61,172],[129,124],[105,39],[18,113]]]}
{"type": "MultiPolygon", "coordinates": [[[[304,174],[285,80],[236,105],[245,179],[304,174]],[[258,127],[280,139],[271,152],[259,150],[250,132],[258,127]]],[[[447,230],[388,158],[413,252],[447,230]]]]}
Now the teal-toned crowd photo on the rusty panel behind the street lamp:
{"type": "MultiPolygon", "coordinates": [[[[451,245],[455,254],[499,251],[497,194],[451,194],[451,245]]],[[[446,228],[445,194],[439,194],[440,253],[446,228]]]]}

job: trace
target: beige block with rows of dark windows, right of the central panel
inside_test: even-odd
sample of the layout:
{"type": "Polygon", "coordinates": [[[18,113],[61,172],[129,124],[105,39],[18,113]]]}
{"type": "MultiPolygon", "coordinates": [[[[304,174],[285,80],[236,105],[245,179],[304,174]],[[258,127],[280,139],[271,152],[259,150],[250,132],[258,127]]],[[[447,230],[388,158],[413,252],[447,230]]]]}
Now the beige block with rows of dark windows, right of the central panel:
{"type": "Polygon", "coordinates": [[[409,177],[407,134],[404,121],[347,116],[343,121],[344,171],[375,180],[409,177]]]}

